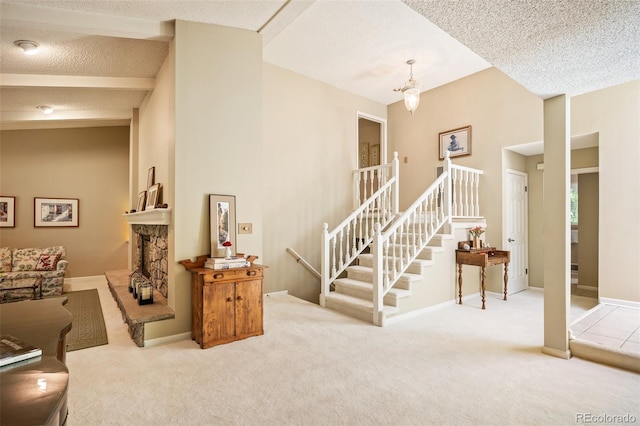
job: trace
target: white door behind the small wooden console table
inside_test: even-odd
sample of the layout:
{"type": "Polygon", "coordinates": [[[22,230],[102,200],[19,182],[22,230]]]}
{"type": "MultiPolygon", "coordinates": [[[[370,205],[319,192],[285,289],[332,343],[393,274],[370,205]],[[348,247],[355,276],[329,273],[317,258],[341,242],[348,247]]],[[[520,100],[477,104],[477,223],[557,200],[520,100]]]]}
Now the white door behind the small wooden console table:
{"type": "Polygon", "coordinates": [[[502,246],[511,251],[509,263],[508,293],[526,290],[529,286],[527,256],[527,174],[515,170],[506,171],[505,226],[502,246]]]}

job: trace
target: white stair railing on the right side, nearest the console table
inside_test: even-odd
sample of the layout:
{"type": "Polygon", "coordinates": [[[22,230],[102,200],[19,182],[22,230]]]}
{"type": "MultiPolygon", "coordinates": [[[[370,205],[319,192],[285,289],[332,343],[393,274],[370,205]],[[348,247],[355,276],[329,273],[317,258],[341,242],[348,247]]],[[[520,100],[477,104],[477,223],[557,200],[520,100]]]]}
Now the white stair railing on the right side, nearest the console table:
{"type": "Polygon", "coordinates": [[[384,325],[383,299],[418,254],[452,218],[478,217],[481,170],[451,164],[449,153],[444,171],[394,223],[382,232],[376,224],[373,255],[373,323],[384,325]]]}

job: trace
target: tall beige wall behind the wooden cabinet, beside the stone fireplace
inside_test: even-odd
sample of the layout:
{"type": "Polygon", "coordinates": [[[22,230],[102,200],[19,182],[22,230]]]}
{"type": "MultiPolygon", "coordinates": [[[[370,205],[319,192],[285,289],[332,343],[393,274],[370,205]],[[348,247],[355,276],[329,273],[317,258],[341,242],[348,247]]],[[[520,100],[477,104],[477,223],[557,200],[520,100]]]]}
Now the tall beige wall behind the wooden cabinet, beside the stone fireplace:
{"type": "Polygon", "coordinates": [[[176,318],[145,325],[145,339],[191,329],[190,273],[177,262],[210,252],[208,194],[235,195],[236,219],[252,223],[253,234],[233,243],[265,257],[260,36],[177,21],[157,84],[140,110],[138,176],[146,182],[142,176],[155,165],[173,209],[168,284],[176,318]]]}

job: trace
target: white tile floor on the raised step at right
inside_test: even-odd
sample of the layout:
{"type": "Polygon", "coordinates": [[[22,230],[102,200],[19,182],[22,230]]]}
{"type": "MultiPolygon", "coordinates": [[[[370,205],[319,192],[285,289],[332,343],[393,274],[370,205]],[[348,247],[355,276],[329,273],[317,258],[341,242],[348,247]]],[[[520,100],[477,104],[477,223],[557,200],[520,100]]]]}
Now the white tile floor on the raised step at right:
{"type": "Polygon", "coordinates": [[[640,353],[640,309],[599,304],[571,325],[578,339],[640,353]]]}

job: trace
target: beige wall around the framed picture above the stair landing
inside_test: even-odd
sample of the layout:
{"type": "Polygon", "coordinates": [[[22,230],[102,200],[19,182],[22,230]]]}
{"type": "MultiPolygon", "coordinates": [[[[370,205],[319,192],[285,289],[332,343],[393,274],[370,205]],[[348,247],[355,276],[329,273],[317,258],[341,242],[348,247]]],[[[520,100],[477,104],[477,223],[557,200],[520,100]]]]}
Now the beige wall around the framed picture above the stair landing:
{"type": "MultiPolygon", "coordinates": [[[[485,238],[501,246],[503,169],[525,168],[517,154],[506,152],[503,159],[503,148],[542,140],[542,100],[490,68],[423,92],[413,116],[402,101],[390,105],[388,123],[389,151],[398,151],[400,158],[401,210],[433,182],[436,167],[442,165],[438,133],[472,126],[472,155],[453,162],[484,170],[480,213],[487,220],[485,238]]],[[[489,268],[490,290],[499,291],[499,275],[498,268],[489,268]]]]}

